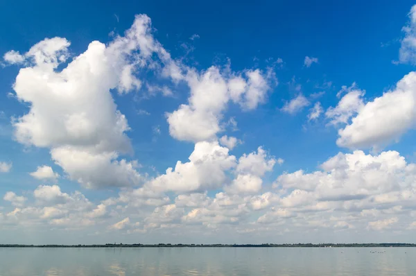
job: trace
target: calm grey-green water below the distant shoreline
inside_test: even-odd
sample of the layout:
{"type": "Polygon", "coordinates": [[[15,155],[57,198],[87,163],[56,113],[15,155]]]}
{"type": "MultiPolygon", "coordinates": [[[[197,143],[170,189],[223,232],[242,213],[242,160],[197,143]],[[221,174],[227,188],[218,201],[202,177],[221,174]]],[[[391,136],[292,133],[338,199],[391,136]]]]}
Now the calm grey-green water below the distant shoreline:
{"type": "Polygon", "coordinates": [[[0,248],[0,275],[398,276],[415,260],[416,248],[0,248]]]}

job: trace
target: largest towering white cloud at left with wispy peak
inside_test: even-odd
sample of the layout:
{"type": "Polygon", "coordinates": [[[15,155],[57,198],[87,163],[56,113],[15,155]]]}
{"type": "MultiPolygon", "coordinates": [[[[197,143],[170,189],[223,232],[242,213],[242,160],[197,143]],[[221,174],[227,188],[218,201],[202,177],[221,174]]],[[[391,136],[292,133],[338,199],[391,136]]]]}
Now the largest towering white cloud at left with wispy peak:
{"type": "MultiPolygon", "coordinates": [[[[124,36],[107,45],[91,42],[62,69],[58,66],[67,61],[70,46],[62,37],[42,40],[19,55],[26,67],[20,69],[13,89],[30,110],[13,122],[17,141],[50,148],[69,178],[85,187],[139,184],[136,162],[117,160],[132,147],[125,134],[130,130],[127,119],[117,110],[110,90],[124,94],[139,89],[136,73],[144,67],[175,68],[166,76],[181,78],[151,31],[150,18],[137,15],[124,36]]],[[[16,56],[17,52],[6,54],[9,62],[21,63],[16,56]]]]}

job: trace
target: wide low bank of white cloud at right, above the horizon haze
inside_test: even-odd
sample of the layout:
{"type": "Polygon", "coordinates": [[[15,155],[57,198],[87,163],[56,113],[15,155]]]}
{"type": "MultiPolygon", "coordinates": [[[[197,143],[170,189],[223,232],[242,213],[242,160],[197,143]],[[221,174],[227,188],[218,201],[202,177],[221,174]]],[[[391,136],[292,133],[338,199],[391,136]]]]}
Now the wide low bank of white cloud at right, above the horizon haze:
{"type": "MultiPolygon", "coordinates": [[[[314,200],[347,202],[366,198],[370,200],[368,204],[388,203],[384,198],[390,198],[390,202],[404,200],[404,191],[412,188],[416,176],[415,164],[407,164],[396,151],[379,155],[365,155],[360,150],[352,154],[339,153],[324,162],[321,168],[323,171],[313,173],[302,170],[284,173],[277,178],[274,187],[296,189],[297,196],[302,195],[311,203],[314,200]],[[395,196],[398,192],[400,196],[395,196]]],[[[414,193],[409,192],[410,195],[414,193]]]]}

